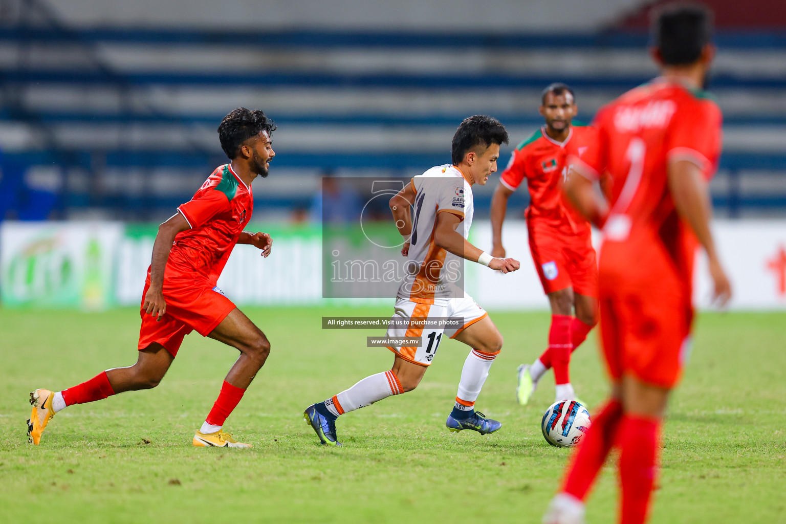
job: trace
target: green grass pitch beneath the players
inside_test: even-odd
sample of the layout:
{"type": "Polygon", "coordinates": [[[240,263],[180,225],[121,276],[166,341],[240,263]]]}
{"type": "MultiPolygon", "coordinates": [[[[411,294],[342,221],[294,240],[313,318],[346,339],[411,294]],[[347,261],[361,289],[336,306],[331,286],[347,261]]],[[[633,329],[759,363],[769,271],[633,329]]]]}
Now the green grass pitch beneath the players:
{"type": "MultiPolygon", "coordinates": [[[[516,366],[542,350],[545,313],[492,313],[505,347],[477,407],[496,434],[450,434],[467,349],[446,341],[421,387],[338,422],[340,449],[318,445],[303,409],[388,369],[378,332],[320,329],[321,316],[389,308],[248,309],[270,358],[226,429],[253,449],[191,446],[234,350],[192,334],[154,390],[66,409],[28,445],[28,392],[59,390],[131,365],[139,318],[0,310],[2,522],[540,522],[568,453],[547,445],[549,374],[516,405],[516,366]]],[[[652,522],[786,522],[784,313],[708,313],[672,399],[652,522]]],[[[575,354],[573,383],[590,405],[606,382],[595,335],[575,354]]],[[[613,522],[613,462],[589,500],[589,522],[613,522]]]]}

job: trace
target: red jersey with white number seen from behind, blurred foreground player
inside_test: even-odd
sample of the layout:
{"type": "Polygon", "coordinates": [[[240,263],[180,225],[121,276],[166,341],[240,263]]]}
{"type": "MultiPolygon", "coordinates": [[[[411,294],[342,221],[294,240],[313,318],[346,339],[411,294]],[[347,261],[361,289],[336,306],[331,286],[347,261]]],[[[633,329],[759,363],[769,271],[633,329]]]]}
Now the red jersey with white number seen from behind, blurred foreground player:
{"type": "Polygon", "coordinates": [[[667,167],[686,159],[709,180],[718,167],[721,123],[707,93],[665,79],[630,90],[597,113],[596,144],[569,163],[606,182],[611,211],[601,278],[640,289],[669,285],[690,300],[697,241],[674,209],[667,167]]]}

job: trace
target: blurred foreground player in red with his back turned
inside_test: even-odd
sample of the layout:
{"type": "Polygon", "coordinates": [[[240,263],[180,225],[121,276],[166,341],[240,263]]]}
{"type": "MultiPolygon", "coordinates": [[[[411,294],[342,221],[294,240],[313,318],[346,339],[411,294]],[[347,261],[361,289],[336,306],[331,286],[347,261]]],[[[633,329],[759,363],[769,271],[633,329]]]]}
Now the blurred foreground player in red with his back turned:
{"type": "Polygon", "coordinates": [[[721,150],[721,112],[700,88],[711,60],[711,14],[669,5],[653,25],[661,76],[597,113],[597,145],[571,157],[565,191],[603,227],[601,341],[612,395],[567,468],[543,522],[584,522],[584,501],[619,446],[619,522],[648,518],[659,433],[670,390],[689,351],[696,247],[707,252],[714,297],[729,280],[715,252],[707,190],[721,150]],[[602,179],[607,200],[593,181],[602,179]]]}

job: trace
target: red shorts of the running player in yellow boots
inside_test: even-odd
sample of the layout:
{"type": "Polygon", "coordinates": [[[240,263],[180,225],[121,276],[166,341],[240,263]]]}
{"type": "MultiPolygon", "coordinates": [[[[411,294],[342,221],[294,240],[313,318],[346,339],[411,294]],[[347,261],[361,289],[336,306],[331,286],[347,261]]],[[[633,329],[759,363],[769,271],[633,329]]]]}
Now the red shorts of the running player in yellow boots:
{"type": "Polygon", "coordinates": [[[156,321],[156,317],[141,308],[145,304],[149,287],[150,280],[145,280],[139,313],[142,317],[138,344],[140,350],[152,343],[159,343],[172,357],[176,357],[185,335],[196,330],[200,335],[208,336],[235,309],[233,302],[217,287],[209,284],[195,286],[193,280],[165,280],[163,298],[167,301],[167,313],[160,321],[156,321]]]}

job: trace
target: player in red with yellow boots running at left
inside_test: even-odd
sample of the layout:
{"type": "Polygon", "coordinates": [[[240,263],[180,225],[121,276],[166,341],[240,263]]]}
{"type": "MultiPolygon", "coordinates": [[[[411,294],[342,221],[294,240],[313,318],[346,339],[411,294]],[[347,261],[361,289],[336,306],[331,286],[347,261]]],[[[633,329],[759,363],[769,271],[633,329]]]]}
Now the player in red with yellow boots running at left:
{"type": "Polygon", "coordinates": [[[247,233],[243,228],[254,207],[252,181],[267,176],[275,156],[275,129],[263,112],[246,108],[235,109],[222,119],[219,140],[231,162],[217,167],[193,199],[158,228],[141,300],[137,363],[108,369],[57,393],[33,391],[30,442],[39,444],[46,424],[68,405],[156,387],[178,354],[183,337],[196,331],[237,348],[241,354],[208,418],[196,431],[193,445],[251,447],[235,441],[222,431],[222,425],[265,363],[270,343],[222,294],[216,281],[235,244],[251,244],[262,250],[264,257],[270,255],[270,236],[247,233]]]}

